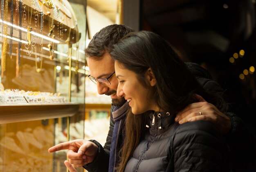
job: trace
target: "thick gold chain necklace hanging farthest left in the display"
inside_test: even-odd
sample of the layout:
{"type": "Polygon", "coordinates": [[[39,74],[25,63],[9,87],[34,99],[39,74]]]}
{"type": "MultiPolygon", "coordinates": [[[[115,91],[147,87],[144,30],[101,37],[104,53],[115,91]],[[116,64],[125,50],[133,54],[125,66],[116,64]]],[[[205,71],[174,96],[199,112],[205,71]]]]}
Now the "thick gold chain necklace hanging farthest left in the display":
{"type": "MultiPolygon", "coordinates": [[[[2,11],[1,11],[2,12],[2,11]]],[[[8,0],[4,2],[4,21],[7,21],[8,18],[8,0]]],[[[2,35],[7,35],[7,24],[3,24],[4,30],[2,31],[2,35]]],[[[3,48],[2,48],[2,59],[1,59],[1,76],[4,75],[5,64],[6,64],[6,51],[7,51],[7,37],[3,38],[3,48]]]]}

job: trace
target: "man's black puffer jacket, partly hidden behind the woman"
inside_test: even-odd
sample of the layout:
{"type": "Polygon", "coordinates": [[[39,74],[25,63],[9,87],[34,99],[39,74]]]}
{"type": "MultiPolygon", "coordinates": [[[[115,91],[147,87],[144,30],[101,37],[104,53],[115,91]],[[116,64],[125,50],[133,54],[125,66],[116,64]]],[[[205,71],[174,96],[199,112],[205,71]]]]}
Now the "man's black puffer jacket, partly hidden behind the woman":
{"type": "MultiPolygon", "coordinates": [[[[223,92],[220,85],[212,80],[207,70],[196,63],[186,64],[204,89],[223,92]]],[[[113,109],[114,106],[111,107],[110,111],[110,129],[104,148],[97,141],[92,140],[99,147],[99,156],[92,163],[84,166],[89,172],[108,172],[110,145],[115,124],[112,116],[113,109]]],[[[231,120],[231,130],[224,136],[231,151],[232,171],[256,172],[256,137],[237,115],[231,112],[226,113],[226,115],[231,120]]]]}

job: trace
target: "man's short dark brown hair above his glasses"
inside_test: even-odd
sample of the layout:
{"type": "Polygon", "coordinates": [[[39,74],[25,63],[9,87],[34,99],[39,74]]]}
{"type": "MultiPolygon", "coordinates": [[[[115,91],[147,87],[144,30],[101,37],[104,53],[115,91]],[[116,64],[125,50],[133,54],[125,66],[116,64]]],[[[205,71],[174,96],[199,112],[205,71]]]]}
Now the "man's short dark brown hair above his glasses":
{"type": "Polygon", "coordinates": [[[112,24],[102,28],[92,37],[88,47],[85,49],[85,57],[101,59],[105,52],[111,52],[113,45],[119,39],[133,31],[132,28],[121,24],[112,24]]]}

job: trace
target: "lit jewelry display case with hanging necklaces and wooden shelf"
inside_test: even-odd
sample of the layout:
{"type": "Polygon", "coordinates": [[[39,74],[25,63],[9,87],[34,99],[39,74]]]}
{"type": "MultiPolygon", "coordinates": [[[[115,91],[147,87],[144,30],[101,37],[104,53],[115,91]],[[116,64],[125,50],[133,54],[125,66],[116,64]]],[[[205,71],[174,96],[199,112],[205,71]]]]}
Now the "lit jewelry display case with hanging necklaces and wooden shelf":
{"type": "Polygon", "coordinates": [[[66,152],[48,148],[84,137],[85,5],[0,6],[0,171],[66,171],[66,152]]]}

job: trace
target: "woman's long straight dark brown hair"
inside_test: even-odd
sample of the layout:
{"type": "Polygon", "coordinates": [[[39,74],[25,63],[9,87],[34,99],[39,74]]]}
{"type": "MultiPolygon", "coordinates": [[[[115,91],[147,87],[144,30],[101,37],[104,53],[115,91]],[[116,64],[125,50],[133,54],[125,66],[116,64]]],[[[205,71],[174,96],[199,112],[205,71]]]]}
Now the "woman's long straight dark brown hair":
{"type": "MultiPolygon", "coordinates": [[[[155,33],[149,31],[129,33],[115,44],[110,54],[125,69],[135,72],[139,81],[145,86],[147,83],[143,78],[146,70],[151,68],[157,84],[150,92],[153,93],[153,100],[163,111],[177,114],[187,105],[197,101],[194,97],[195,93],[215,105],[220,111],[225,112],[227,109],[220,96],[213,96],[202,89],[168,41],[155,33]]],[[[126,118],[126,137],[120,151],[119,172],[124,171],[148,122],[145,115],[133,115],[131,111],[126,118]]]]}

